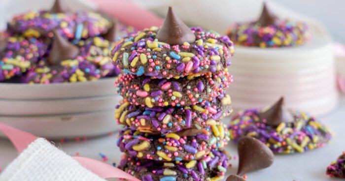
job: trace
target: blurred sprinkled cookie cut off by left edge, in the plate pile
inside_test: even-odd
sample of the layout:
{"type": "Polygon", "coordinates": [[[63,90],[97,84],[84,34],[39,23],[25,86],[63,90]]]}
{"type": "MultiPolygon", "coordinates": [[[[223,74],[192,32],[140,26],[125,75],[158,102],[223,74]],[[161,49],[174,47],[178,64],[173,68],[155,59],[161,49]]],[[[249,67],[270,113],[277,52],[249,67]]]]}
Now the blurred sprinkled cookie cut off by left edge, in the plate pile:
{"type": "Polygon", "coordinates": [[[21,76],[28,69],[43,59],[49,40],[25,38],[21,35],[6,35],[1,40],[3,51],[0,52],[0,82],[21,76]]]}

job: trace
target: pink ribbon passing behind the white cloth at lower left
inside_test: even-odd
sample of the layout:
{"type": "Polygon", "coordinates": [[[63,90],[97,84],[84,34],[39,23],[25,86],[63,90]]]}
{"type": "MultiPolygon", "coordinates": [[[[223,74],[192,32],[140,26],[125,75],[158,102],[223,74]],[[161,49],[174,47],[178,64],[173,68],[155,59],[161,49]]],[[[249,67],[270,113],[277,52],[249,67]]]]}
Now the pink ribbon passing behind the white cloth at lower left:
{"type": "MultiPolygon", "coordinates": [[[[37,137],[33,134],[16,129],[1,122],[0,132],[2,132],[7,138],[9,138],[18,152],[23,152],[32,142],[37,139],[37,137]]],[[[81,166],[85,167],[101,178],[117,178],[127,179],[129,181],[140,181],[132,175],[101,161],[79,156],[74,156],[72,158],[79,162],[81,166]]]]}

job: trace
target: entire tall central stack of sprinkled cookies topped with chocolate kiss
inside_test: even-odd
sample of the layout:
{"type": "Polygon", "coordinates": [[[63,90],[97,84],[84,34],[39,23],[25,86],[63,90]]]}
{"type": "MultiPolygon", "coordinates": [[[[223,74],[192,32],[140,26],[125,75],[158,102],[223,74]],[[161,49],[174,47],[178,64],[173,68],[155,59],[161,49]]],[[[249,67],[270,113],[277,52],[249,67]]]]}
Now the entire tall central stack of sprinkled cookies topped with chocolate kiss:
{"type": "Polygon", "coordinates": [[[117,42],[111,56],[124,74],[115,118],[124,125],[119,168],[142,181],[218,181],[229,156],[228,74],[234,46],[227,36],[189,29],[170,7],[163,26],[117,42]]]}

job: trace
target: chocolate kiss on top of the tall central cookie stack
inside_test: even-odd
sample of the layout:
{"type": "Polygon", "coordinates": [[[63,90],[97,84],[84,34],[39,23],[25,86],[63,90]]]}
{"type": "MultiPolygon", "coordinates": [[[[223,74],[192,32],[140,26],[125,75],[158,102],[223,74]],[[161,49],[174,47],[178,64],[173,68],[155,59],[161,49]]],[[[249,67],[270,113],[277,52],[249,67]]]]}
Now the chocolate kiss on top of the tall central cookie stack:
{"type": "Polygon", "coordinates": [[[158,30],[156,38],[171,45],[182,45],[184,42],[193,43],[195,34],[177,17],[173,8],[169,7],[167,17],[158,30]]]}

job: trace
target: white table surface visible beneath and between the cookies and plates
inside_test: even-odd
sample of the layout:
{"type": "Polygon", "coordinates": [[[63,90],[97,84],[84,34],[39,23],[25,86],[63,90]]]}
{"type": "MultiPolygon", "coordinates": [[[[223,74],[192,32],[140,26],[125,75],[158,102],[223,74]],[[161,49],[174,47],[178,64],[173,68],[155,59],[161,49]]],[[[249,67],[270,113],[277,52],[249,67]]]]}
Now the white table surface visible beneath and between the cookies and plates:
{"type": "MultiPolygon", "coordinates": [[[[326,167],[331,161],[345,151],[345,96],[340,98],[339,107],[332,113],[323,116],[320,120],[327,124],[334,132],[332,142],[324,148],[316,149],[306,153],[293,155],[276,155],[273,165],[267,169],[247,174],[247,181],[340,181],[330,179],[325,174],[326,167]]],[[[229,122],[230,118],[224,119],[229,122]]],[[[115,122],[115,121],[114,121],[115,122]]],[[[99,153],[107,156],[106,163],[118,164],[122,153],[116,147],[116,134],[100,138],[88,139],[80,142],[56,143],[56,146],[66,151],[69,155],[95,158],[102,160],[99,153]]],[[[230,143],[226,148],[232,156],[237,156],[237,147],[230,143]]],[[[6,139],[0,139],[0,169],[17,156],[17,152],[6,139]]],[[[237,171],[238,159],[232,159],[233,167],[227,175],[237,171]]],[[[224,179],[225,180],[225,179],[224,179]]]]}

